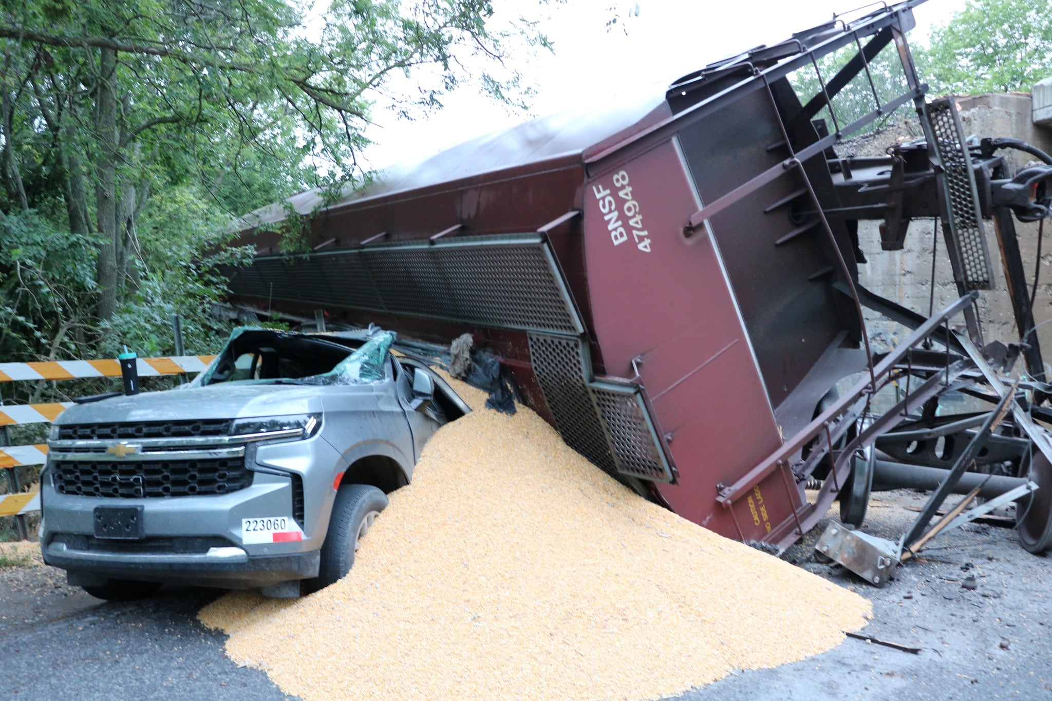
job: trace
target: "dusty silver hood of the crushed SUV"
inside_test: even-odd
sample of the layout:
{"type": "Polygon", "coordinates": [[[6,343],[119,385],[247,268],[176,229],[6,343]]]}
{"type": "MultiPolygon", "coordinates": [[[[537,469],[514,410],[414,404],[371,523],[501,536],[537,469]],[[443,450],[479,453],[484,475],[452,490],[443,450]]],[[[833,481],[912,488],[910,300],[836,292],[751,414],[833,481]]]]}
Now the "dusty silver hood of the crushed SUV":
{"type": "Polygon", "coordinates": [[[376,403],[371,386],[318,387],[295,385],[248,385],[231,387],[183,387],[134,396],[113,397],[102,401],[76,405],[55,421],[106,424],[118,421],[165,421],[196,418],[244,418],[279,416],[323,411],[322,398],[339,392],[342,396],[361,395],[364,403],[376,403]]]}

